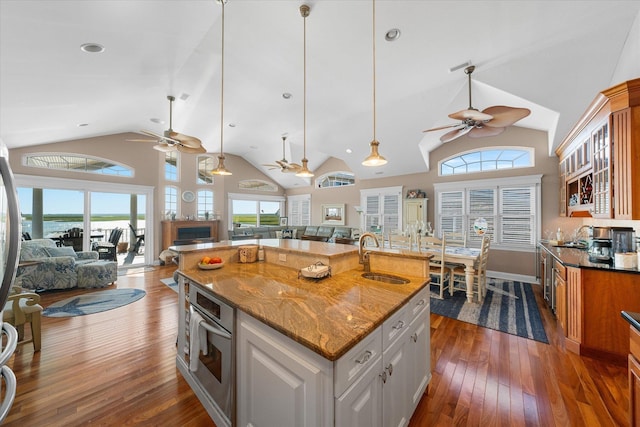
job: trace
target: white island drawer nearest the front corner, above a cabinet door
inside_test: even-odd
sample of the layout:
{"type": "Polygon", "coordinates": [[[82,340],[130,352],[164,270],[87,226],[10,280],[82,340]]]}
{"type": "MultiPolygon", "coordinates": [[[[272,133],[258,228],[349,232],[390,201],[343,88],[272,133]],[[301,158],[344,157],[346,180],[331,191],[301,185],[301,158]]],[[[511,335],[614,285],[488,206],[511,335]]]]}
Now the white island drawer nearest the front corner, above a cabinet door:
{"type": "Polygon", "coordinates": [[[340,397],[344,391],[382,357],[382,327],[371,332],[365,339],[349,350],[335,364],[334,395],[340,397]]]}

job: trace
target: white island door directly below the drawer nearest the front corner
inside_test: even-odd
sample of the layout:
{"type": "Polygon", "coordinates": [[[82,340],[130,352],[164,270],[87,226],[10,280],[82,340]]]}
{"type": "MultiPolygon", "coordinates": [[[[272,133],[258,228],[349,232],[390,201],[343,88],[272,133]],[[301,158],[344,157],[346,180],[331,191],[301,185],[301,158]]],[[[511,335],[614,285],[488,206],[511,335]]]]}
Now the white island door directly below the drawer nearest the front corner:
{"type": "Polygon", "coordinates": [[[382,358],[378,356],[365,373],[336,398],[337,426],[381,427],[382,358]]]}

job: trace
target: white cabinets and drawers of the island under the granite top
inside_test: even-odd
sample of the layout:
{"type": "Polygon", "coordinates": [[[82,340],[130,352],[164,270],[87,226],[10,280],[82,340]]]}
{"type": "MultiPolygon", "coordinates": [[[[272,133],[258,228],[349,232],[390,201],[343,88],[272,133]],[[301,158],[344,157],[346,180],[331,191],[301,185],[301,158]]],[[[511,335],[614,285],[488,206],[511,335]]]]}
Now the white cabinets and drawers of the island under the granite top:
{"type": "Polygon", "coordinates": [[[335,363],[240,312],[239,426],[403,426],[431,379],[429,289],[335,363]]]}

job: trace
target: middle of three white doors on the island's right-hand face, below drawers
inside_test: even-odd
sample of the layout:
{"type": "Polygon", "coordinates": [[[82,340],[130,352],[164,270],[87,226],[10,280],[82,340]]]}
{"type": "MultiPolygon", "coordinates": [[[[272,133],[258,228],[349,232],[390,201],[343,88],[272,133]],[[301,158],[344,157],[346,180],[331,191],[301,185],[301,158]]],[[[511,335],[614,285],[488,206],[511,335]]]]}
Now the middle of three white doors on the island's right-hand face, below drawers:
{"type": "Polygon", "coordinates": [[[409,376],[407,336],[405,330],[405,333],[382,354],[382,370],[386,374],[386,381],[383,381],[382,385],[382,416],[385,427],[406,426],[411,417],[410,396],[407,388],[409,376]]]}

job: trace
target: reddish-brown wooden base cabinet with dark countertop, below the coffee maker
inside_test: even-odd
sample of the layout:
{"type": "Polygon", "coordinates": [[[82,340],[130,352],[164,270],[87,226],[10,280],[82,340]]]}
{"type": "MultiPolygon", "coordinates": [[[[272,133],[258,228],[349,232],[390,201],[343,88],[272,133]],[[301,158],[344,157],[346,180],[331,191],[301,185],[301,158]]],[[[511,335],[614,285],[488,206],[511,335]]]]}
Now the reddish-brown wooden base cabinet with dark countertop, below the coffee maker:
{"type": "Polygon", "coordinates": [[[555,292],[552,308],[566,348],[625,365],[629,325],[620,313],[640,311],[640,270],[592,262],[585,250],[547,242],[538,246],[548,260],[545,268],[552,272],[547,275],[550,283],[543,285],[555,292]]]}

